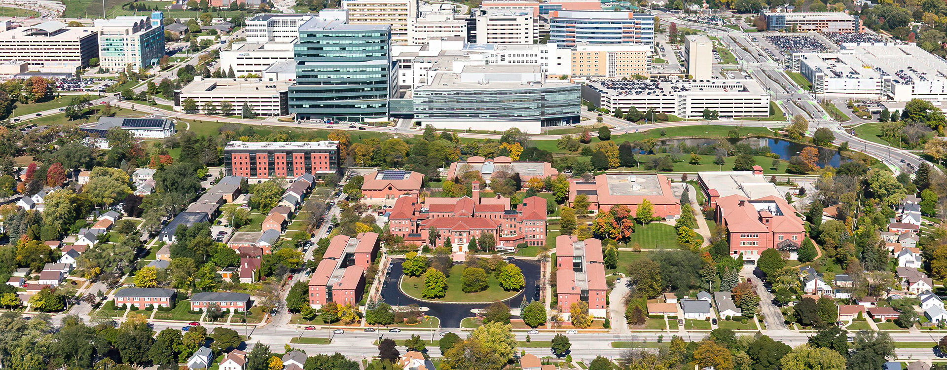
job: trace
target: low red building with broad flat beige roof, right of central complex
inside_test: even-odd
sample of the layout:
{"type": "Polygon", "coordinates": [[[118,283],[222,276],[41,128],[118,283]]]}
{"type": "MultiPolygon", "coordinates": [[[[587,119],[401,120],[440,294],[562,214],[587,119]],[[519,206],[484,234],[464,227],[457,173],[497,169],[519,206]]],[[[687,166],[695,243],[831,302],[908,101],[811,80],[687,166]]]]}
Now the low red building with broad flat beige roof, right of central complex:
{"type": "Polygon", "coordinates": [[[592,181],[569,180],[569,204],[585,194],[589,210],[607,211],[618,204],[627,205],[634,216],[638,204],[652,203],[654,217],[677,218],[681,214],[681,203],[670,189],[670,180],[661,174],[653,175],[608,175],[596,176],[592,181]]]}

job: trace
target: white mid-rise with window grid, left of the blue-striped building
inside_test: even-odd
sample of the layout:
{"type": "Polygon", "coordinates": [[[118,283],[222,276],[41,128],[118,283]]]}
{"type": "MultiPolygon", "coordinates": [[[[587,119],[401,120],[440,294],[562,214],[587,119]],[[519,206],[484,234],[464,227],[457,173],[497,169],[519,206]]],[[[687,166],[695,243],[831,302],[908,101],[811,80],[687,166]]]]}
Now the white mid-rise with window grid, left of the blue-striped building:
{"type": "Polygon", "coordinates": [[[476,15],[476,44],[533,44],[535,22],[528,11],[481,10],[476,15]]]}

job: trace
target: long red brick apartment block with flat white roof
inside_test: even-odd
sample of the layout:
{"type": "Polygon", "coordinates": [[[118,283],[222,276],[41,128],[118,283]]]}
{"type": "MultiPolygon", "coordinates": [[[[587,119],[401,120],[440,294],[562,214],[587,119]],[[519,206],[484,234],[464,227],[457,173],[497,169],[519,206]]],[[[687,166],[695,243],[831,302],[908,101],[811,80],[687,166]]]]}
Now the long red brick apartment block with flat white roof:
{"type": "Polygon", "coordinates": [[[327,175],[339,170],[338,145],[337,141],[231,141],[223,148],[223,165],[227,175],[250,179],[327,175]]]}

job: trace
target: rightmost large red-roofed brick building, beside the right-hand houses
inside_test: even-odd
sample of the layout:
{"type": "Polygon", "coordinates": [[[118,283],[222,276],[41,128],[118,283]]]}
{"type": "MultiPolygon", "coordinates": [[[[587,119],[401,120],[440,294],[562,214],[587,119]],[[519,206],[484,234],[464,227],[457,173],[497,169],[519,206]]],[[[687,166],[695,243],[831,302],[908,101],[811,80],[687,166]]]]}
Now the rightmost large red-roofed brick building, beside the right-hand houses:
{"type": "Polygon", "coordinates": [[[720,198],[714,220],[729,232],[730,255],[743,255],[744,261],[752,263],[768,248],[798,249],[806,234],[795,209],[776,196],[756,200],[740,195],[720,198]]]}

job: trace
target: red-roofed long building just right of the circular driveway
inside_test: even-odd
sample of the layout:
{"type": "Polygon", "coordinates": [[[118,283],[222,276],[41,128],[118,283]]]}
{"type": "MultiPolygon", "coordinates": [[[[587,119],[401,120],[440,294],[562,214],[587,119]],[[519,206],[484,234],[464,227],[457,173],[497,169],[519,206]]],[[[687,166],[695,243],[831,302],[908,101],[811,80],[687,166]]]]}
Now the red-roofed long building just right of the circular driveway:
{"type": "Polygon", "coordinates": [[[589,305],[589,314],[605,316],[608,286],[603,262],[601,240],[556,237],[556,295],[561,313],[584,301],[589,305]]]}

